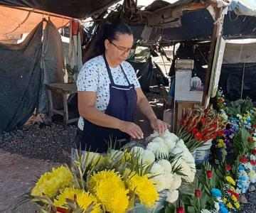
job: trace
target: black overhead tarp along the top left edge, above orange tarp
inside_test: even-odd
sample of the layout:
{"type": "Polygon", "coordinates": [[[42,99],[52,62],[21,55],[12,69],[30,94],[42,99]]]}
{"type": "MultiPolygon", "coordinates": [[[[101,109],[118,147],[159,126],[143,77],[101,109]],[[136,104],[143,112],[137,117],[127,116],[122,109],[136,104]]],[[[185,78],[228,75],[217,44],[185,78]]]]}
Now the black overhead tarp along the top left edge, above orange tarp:
{"type": "Polygon", "coordinates": [[[72,18],[85,18],[107,9],[118,0],[0,0],[3,6],[19,6],[48,11],[72,18]]]}

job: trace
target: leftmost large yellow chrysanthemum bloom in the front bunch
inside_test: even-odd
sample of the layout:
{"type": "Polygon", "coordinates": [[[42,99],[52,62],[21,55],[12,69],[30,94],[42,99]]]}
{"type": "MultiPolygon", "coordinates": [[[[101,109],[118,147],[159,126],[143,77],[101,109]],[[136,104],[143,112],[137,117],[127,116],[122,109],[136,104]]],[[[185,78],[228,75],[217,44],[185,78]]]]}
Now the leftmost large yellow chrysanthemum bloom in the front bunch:
{"type": "Polygon", "coordinates": [[[69,168],[63,165],[59,168],[53,168],[52,172],[41,175],[36,186],[31,191],[32,196],[42,196],[43,194],[48,197],[53,197],[59,190],[73,185],[73,175],[69,168]]]}

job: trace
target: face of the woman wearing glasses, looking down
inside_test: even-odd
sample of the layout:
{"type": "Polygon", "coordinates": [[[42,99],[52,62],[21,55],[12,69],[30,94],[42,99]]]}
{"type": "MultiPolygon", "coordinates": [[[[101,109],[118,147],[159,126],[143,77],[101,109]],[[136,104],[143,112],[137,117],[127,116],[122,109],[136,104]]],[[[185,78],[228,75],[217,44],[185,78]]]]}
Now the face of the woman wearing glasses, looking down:
{"type": "Polygon", "coordinates": [[[110,42],[105,40],[105,48],[107,57],[110,58],[117,65],[121,64],[127,59],[133,45],[133,35],[119,34],[117,39],[110,42]]]}

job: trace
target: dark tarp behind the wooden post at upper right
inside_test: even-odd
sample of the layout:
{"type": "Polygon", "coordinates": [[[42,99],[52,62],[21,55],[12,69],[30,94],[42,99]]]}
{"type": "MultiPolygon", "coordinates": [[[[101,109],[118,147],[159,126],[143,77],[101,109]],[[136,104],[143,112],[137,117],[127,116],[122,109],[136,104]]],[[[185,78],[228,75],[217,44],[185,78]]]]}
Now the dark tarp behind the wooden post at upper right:
{"type": "MultiPolygon", "coordinates": [[[[213,18],[207,9],[184,12],[181,28],[165,29],[163,41],[205,40],[211,37],[213,25],[213,18]]],[[[224,18],[223,37],[256,38],[256,17],[237,16],[233,11],[228,11],[224,18]]]]}

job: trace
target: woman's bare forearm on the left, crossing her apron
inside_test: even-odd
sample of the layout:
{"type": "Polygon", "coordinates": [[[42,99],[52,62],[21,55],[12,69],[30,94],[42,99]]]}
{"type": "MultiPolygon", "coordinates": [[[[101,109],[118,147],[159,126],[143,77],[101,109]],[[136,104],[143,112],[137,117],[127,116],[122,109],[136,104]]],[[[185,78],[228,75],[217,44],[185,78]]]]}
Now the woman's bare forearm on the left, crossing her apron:
{"type": "Polygon", "coordinates": [[[114,118],[113,116],[109,116],[102,111],[96,109],[95,107],[87,107],[83,111],[80,111],[80,116],[90,121],[92,124],[96,124],[98,126],[104,126],[112,129],[119,129],[121,120],[114,118]]]}

